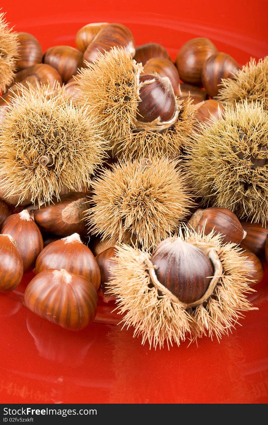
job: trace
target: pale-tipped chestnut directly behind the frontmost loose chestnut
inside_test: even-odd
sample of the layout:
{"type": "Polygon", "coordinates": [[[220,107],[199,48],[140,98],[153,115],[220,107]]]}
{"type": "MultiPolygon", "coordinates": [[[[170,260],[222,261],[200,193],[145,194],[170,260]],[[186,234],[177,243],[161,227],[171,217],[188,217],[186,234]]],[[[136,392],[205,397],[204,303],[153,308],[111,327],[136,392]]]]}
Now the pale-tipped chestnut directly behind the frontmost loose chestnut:
{"type": "Polygon", "coordinates": [[[65,269],[84,276],[96,290],[100,286],[100,269],[90,249],[82,244],[78,233],[47,245],[37,257],[36,274],[47,269],[65,269]]]}

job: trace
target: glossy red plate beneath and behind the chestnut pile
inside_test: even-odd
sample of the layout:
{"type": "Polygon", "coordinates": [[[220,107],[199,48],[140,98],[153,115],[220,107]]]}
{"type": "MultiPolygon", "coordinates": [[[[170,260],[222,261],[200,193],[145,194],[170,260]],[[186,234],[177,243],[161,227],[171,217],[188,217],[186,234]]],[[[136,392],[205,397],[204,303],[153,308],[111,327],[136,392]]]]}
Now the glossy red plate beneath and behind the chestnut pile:
{"type": "MultiPolygon", "coordinates": [[[[158,42],[173,59],[193,37],[209,37],[241,65],[268,54],[266,0],[224,3],[126,0],[3,0],[8,22],[31,32],[43,49],[75,46],[89,22],[120,22],[137,45],[158,42]]],[[[268,402],[268,273],[251,295],[248,312],[221,343],[203,338],[149,350],[120,330],[112,307],[100,302],[97,320],[70,332],[30,312],[23,292],[0,294],[0,401],[2,403],[266,403],[268,402]],[[104,323],[106,322],[106,323],[104,323]],[[109,322],[109,323],[108,323],[109,322]]]]}

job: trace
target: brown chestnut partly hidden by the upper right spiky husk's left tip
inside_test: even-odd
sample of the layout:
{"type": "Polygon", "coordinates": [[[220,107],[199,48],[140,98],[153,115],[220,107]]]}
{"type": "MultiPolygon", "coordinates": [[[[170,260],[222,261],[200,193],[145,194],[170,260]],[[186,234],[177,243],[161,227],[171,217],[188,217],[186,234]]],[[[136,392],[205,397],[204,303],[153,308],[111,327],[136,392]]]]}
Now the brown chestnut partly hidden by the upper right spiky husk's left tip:
{"type": "Polygon", "coordinates": [[[202,84],[211,97],[218,96],[222,78],[234,78],[240,66],[229,54],[212,54],[202,68],[202,84]]]}

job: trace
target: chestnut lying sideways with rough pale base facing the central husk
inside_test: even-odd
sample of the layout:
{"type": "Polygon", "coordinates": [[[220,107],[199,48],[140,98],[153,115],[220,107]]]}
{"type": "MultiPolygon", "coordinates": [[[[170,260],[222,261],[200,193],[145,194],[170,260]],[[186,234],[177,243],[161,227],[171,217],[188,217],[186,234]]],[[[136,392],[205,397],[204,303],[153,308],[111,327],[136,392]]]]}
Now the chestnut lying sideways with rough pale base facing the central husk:
{"type": "Polygon", "coordinates": [[[84,211],[88,209],[88,201],[86,193],[62,195],[60,201],[37,208],[34,211],[34,220],[42,230],[54,235],[83,234],[86,231],[84,211]]]}

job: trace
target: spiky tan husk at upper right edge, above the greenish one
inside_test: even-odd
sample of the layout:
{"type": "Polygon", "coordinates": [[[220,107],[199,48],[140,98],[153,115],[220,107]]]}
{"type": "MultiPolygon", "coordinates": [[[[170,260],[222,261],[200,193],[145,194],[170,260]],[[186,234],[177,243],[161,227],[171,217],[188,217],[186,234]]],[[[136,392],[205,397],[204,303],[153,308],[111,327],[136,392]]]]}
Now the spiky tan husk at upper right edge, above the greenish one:
{"type": "Polygon", "coordinates": [[[217,98],[222,102],[234,104],[247,99],[263,102],[264,109],[268,109],[268,56],[259,62],[251,58],[233,79],[222,79],[221,84],[217,98]]]}

